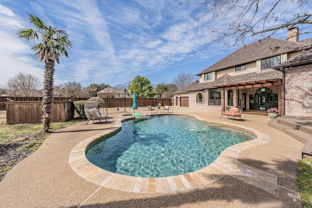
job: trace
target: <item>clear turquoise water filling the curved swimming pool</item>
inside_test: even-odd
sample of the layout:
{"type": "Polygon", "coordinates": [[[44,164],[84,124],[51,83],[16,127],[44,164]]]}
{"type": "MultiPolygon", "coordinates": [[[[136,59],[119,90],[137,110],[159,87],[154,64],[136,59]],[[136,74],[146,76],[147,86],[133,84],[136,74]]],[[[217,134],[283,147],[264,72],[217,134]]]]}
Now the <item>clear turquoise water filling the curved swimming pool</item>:
{"type": "Polygon", "coordinates": [[[96,166],[123,175],[167,177],[202,169],[226,148],[254,135],[195,118],[158,115],[122,123],[121,131],[86,151],[96,166]]]}

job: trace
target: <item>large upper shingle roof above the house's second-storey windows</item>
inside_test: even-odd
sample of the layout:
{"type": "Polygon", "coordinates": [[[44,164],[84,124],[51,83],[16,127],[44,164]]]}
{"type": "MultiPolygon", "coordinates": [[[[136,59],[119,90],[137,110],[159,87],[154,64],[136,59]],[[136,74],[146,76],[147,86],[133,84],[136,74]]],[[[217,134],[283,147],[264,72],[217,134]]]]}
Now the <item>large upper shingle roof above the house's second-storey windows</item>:
{"type": "Polygon", "coordinates": [[[310,38],[299,42],[291,42],[288,40],[281,40],[277,38],[264,38],[241,47],[229,56],[221,59],[212,66],[198,73],[197,76],[208,72],[219,71],[222,69],[251,63],[267,57],[290,53],[296,51],[298,48],[305,47],[308,44],[311,44],[311,40],[309,39],[310,38]],[[273,50],[271,49],[274,47],[278,48],[275,53],[273,53],[273,50]]]}

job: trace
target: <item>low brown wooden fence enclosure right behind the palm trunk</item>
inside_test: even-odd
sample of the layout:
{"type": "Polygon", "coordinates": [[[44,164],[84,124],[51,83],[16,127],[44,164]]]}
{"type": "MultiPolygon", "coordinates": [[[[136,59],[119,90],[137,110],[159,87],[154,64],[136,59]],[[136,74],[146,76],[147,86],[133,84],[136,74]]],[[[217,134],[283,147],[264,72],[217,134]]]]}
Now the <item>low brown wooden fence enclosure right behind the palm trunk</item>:
{"type": "MultiPolygon", "coordinates": [[[[50,121],[67,121],[74,118],[73,101],[53,101],[50,121]]],[[[42,119],[41,101],[6,102],[6,123],[36,123],[42,119]]]]}

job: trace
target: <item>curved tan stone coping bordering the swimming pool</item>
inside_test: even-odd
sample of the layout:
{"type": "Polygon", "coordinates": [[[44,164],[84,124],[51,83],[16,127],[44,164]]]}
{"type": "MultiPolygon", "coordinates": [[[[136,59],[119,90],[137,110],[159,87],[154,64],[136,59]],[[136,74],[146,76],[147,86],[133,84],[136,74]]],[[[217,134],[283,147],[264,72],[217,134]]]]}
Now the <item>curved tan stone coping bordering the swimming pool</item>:
{"type": "Polygon", "coordinates": [[[203,169],[196,170],[194,172],[160,178],[126,176],[97,167],[96,165],[90,163],[85,155],[86,148],[92,143],[98,141],[103,136],[108,136],[119,131],[123,121],[134,119],[133,116],[126,117],[124,115],[119,115],[121,118],[116,120],[115,126],[113,128],[79,142],[72,149],[68,156],[68,163],[70,167],[80,177],[100,187],[137,193],[182,191],[186,189],[194,189],[196,187],[203,186],[218,180],[228,172],[231,172],[233,169],[237,168],[237,157],[241,152],[258,145],[266,144],[271,140],[267,134],[245,126],[210,121],[207,119],[202,119],[196,115],[184,113],[169,114],[195,117],[197,120],[210,124],[238,128],[243,131],[254,133],[256,138],[250,141],[235,144],[227,148],[219,155],[215,162],[203,169]]]}

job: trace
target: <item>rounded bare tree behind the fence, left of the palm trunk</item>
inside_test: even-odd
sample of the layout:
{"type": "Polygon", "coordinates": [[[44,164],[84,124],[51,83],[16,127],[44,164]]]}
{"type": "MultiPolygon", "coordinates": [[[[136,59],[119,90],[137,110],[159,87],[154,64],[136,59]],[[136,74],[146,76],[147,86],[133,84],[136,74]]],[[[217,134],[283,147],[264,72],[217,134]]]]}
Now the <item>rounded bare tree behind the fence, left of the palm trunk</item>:
{"type": "Polygon", "coordinates": [[[42,85],[38,76],[19,72],[7,81],[7,95],[10,96],[37,96],[38,88],[42,85]]]}

